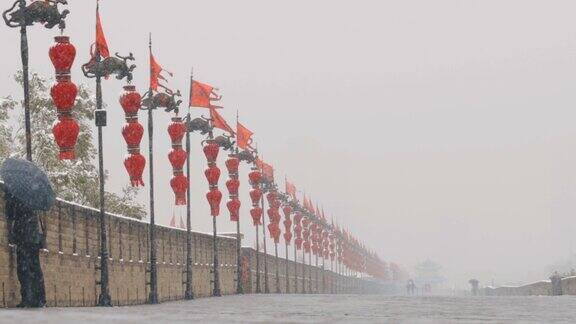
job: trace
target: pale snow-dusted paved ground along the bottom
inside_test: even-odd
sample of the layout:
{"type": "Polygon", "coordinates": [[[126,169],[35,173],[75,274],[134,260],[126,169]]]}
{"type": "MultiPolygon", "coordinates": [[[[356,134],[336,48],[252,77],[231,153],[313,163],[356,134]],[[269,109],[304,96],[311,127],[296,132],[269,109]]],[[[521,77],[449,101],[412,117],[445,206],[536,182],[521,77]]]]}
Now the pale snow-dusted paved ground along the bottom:
{"type": "Polygon", "coordinates": [[[114,308],[0,310],[0,323],[576,323],[576,297],[245,295],[114,308]]]}

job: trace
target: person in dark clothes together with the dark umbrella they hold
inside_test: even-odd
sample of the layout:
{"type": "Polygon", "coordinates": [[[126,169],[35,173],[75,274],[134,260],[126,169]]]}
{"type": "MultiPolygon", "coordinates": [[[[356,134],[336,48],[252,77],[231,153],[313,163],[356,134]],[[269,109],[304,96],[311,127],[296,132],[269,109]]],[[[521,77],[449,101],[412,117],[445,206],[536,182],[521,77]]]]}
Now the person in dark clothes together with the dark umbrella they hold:
{"type": "Polygon", "coordinates": [[[0,169],[4,180],[8,241],[16,245],[16,262],[22,301],[17,307],[46,304],[44,276],[40,265],[43,234],[36,210],[49,210],[54,191],[46,174],[34,163],[9,158],[0,169]]]}

